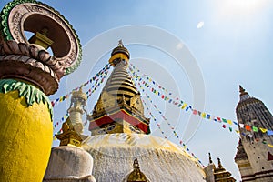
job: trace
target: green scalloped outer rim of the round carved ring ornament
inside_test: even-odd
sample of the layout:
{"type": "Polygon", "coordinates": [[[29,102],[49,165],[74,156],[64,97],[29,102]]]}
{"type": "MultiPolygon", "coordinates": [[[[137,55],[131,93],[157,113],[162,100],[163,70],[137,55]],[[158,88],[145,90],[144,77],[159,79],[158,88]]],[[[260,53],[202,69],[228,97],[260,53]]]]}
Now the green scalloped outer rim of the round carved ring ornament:
{"type": "Polygon", "coordinates": [[[82,46],[80,44],[80,40],[78,38],[78,35],[76,34],[75,29],[68,22],[68,20],[65,18],[65,16],[61,15],[58,11],[56,11],[53,7],[51,7],[49,5],[46,5],[44,3],[41,3],[41,2],[38,2],[38,1],[35,1],[35,0],[14,0],[14,1],[6,4],[4,6],[4,8],[2,9],[1,13],[0,13],[0,32],[1,32],[1,35],[3,36],[4,40],[14,40],[14,37],[11,35],[11,32],[10,32],[9,27],[8,27],[8,16],[9,16],[10,11],[16,5],[20,5],[20,4],[24,4],[24,3],[33,3],[33,4],[43,5],[43,6],[47,7],[48,9],[54,11],[62,19],[64,19],[66,24],[73,31],[74,35],[76,36],[76,43],[77,43],[78,48],[79,48],[78,56],[77,56],[77,59],[76,59],[74,65],[66,68],[65,75],[68,75],[68,74],[71,74],[72,72],[74,72],[76,70],[76,68],[80,65],[81,60],[82,60],[82,46]]]}

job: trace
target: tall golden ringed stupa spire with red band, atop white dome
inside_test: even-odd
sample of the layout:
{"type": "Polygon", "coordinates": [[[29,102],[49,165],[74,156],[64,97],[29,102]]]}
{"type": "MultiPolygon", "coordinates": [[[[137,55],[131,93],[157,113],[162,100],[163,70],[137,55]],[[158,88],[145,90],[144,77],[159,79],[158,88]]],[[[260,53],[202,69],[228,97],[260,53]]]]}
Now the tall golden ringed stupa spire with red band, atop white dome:
{"type": "Polygon", "coordinates": [[[90,121],[92,135],[113,133],[149,134],[149,119],[144,116],[140,93],[126,71],[129,52],[119,41],[109,63],[114,70],[96,103],[90,121]]]}

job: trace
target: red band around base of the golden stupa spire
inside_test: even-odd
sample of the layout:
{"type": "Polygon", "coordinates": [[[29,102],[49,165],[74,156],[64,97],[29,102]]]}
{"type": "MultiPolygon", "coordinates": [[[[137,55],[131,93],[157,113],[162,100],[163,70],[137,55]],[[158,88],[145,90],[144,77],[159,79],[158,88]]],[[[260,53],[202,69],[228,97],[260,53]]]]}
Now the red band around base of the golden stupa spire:
{"type": "Polygon", "coordinates": [[[137,128],[144,131],[146,134],[149,133],[149,126],[143,123],[141,120],[132,116],[131,114],[127,113],[125,110],[121,109],[114,114],[101,116],[96,118],[94,121],[90,122],[89,124],[89,131],[92,129],[102,126],[104,124],[112,123],[116,120],[125,120],[127,123],[136,126],[137,128]]]}

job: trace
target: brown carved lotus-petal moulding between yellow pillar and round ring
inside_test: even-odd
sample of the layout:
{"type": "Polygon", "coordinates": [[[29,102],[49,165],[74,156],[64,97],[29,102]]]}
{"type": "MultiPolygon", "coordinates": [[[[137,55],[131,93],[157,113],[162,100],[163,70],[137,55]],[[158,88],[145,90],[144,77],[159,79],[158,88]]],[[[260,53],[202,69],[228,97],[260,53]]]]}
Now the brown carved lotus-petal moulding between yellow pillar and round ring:
{"type": "Polygon", "coordinates": [[[0,45],[0,79],[17,78],[38,86],[45,95],[58,89],[64,70],[38,46],[6,41],[0,45]]]}

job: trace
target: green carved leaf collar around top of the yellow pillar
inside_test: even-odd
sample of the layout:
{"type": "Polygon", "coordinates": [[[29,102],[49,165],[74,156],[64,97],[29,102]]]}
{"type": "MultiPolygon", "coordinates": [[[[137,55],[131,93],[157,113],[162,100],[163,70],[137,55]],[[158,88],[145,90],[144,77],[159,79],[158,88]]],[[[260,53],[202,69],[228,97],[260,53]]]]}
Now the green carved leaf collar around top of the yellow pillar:
{"type": "Polygon", "coordinates": [[[0,80],[0,93],[8,93],[17,90],[19,97],[24,96],[27,106],[32,106],[34,103],[40,104],[43,102],[47,104],[50,112],[51,120],[53,117],[53,107],[50,100],[45,94],[35,86],[25,84],[14,79],[1,79],[0,80]]]}

